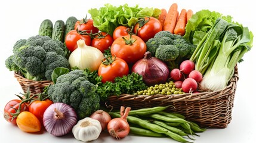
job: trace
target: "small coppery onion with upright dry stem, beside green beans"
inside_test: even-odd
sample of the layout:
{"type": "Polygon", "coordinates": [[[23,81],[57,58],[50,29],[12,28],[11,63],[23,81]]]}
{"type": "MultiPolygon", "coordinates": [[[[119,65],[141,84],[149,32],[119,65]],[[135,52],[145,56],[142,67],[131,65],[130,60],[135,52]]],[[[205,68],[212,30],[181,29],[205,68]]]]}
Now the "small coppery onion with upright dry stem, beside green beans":
{"type": "Polygon", "coordinates": [[[122,117],[114,118],[110,120],[110,122],[107,124],[107,130],[109,131],[109,134],[115,139],[124,138],[129,134],[130,130],[129,124],[127,122],[127,116],[129,114],[129,111],[131,110],[131,107],[125,108],[125,112],[122,111],[122,109],[124,109],[124,107],[121,107],[122,117]]]}

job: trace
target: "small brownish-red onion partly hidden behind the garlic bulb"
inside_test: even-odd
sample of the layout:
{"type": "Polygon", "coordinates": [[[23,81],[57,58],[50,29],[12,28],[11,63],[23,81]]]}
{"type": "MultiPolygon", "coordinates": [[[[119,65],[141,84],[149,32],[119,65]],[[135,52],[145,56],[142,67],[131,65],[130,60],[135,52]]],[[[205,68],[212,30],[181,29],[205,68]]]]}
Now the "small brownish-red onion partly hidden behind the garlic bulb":
{"type": "Polygon", "coordinates": [[[109,113],[103,110],[97,110],[94,113],[91,114],[90,116],[92,119],[96,119],[100,122],[101,125],[101,130],[107,129],[107,124],[111,120],[111,116],[109,113]]]}

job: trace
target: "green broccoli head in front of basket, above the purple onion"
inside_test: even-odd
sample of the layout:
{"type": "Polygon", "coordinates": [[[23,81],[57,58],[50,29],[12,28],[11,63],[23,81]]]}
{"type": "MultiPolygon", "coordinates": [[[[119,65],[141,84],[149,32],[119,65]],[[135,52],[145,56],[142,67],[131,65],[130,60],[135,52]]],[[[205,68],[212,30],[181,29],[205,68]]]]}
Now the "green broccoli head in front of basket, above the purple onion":
{"type": "Polygon", "coordinates": [[[74,108],[79,119],[90,116],[100,108],[97,86],[88,81],[83,70],[72,70],[57,78],[48,87],[48,95],[53,102],[64,102],[74,108]]]}

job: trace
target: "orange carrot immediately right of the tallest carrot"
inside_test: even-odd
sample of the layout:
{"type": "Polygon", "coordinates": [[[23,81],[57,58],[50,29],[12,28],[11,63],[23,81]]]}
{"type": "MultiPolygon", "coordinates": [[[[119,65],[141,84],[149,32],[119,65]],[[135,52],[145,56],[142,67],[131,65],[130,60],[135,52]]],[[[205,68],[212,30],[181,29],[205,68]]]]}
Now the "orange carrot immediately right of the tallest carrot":
{"type": "Polygon", "coordinates": [[[187,24],[187,11],[185,9],[182,9],[174,29],[174,34],[183,36],[186,32],[185,30],[186,24],[187,24]]]}

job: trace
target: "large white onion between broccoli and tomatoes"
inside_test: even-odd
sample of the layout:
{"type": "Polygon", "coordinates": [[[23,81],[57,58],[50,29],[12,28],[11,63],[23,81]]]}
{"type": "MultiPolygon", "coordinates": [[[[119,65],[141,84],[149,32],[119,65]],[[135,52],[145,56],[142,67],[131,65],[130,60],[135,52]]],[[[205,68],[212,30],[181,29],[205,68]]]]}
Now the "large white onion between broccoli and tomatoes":
{"type": "Polygon", "coordinates": [[[85,41],[80,39],[76,48],[69,56],[70,67],[78,67],[78,69],[89,69],[90,71],[98,70],[103,59],[102,52],[93,46],[87,46],[85,41]]]}

